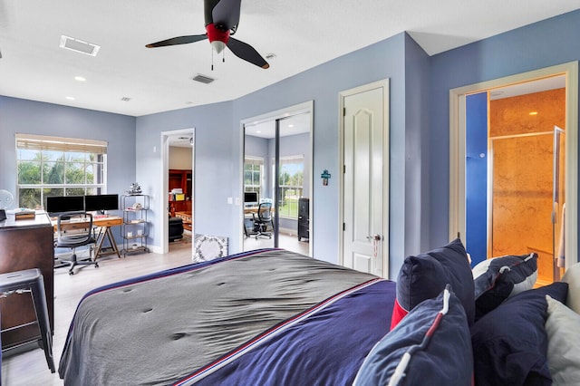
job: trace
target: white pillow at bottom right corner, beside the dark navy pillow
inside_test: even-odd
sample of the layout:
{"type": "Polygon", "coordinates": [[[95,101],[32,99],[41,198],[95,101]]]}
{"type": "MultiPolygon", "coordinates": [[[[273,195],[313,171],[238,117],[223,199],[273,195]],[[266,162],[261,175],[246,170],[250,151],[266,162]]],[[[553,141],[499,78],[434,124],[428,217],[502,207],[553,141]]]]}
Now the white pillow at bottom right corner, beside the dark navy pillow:
{"type": "Polygon", "coordinates": [[[580,380],[580,314],[546,295],[547,363],[554,385],[580,380]]]}

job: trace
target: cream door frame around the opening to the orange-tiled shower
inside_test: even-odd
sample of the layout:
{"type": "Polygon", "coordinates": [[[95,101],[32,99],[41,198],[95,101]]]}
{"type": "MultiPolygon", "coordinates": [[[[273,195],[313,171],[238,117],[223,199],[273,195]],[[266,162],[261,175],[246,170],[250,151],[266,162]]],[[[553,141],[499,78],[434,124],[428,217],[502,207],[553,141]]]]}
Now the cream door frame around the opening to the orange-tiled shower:
{"type": "MultiPolygon", "coordinates": [[[[510,84],[565,75],[565,256],[577,256],[578,242],[578,62],[522,72],[449,90],[449,240],[466,233],[465,98],[510,84]],[[571,172],[574,171],[574,172],[571,172]]],[[[565,269],[572,262],[565,259],[565,269]]]]}

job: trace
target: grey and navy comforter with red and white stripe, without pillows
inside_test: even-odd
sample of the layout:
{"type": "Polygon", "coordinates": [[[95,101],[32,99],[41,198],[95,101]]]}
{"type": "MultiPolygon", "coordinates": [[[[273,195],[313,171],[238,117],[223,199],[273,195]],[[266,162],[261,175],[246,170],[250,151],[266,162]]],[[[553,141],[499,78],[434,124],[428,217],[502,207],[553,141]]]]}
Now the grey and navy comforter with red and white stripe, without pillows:
{"type": "Polygon", "coordinates": [[[351,384],[394,298],[393,282],[279,249],[186,265],[86,294],[59,374],[67,385],[351,384]]]}

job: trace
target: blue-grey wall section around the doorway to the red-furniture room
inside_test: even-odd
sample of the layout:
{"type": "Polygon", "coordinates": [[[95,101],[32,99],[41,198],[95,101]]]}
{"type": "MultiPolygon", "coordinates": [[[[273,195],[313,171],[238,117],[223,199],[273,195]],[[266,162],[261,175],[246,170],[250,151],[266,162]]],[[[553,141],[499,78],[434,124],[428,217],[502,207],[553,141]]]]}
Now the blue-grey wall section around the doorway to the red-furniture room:
{"type": "Polygon", "coordinates": [[[167,216],[167,211],[159,213],[159,207],[161,195],[165,194],[161,191],[161,132],[168,130],[195,128],[193,216],[196,232],[228,236],[230,240],[238,230],[242,232],[235,206],[227,205],[228,197],[236,197],[231,189],[232,179],[235,179],[232,170],[241,162],[239,150],[232,149],[232,130],[241,132],[241,129],[239,122],[237,127],[233,127],[232,122],[231,101],[137,118],[136,179],[143,191],[151,195],[152,210],[148,217],[154,237],[151,246],[160,248],[160,227],[156,225],[167,216]]]}

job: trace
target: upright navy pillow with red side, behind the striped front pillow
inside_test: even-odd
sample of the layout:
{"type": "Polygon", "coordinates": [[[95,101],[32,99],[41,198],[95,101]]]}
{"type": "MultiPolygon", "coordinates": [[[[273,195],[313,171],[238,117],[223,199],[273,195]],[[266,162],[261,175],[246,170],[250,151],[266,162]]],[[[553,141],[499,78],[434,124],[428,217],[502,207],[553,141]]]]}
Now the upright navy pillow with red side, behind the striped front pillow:
{"type": "Polygon", "coordinates": [[[440,294],[447,284],[463,304],[471,325],[475,318],[473,275],[468,254],[459,238],[447,246],[405,258],[397,279],[391,329],[417,304],[440,294]]]}

